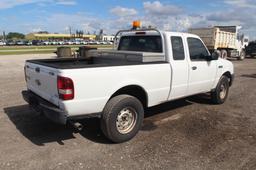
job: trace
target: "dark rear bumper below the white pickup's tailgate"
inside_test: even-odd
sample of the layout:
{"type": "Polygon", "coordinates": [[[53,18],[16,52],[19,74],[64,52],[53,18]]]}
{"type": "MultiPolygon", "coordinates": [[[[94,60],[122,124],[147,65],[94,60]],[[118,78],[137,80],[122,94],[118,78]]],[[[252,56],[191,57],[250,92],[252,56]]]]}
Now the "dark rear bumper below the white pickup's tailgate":
{"type": "Polygon", "coordinates": [[[66,124],[67,114],[57,106],[39,97],[31,91],[22,91],[22,96],[29,105],[37,112],[43,113],[48,119],[55,123],[66,124]]]}

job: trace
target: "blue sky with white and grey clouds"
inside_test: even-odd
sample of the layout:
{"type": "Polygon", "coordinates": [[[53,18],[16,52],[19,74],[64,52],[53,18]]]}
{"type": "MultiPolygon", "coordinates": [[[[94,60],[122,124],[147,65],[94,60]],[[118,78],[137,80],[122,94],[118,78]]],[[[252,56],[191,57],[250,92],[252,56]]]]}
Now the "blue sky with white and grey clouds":
{"type": "Polygon", "coordinates": [[[188,28],[240,25],[256,39],[256,0],[1,0],[0,34],[38,31],[113,34],[143,26],[186,32],[188,28]]]}

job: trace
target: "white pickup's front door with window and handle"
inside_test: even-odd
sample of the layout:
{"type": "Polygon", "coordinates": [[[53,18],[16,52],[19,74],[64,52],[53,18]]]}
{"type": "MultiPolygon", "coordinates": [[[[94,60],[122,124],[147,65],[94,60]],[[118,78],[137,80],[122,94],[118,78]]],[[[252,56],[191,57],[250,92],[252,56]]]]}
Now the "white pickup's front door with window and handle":
{"type": "Polygon", "coordinates": [[[217,61],[209,61],[210,55],[204,43],[197,37],[187,37],[189,54],[188,95],[208,92],[213,87],[217,61]]]}

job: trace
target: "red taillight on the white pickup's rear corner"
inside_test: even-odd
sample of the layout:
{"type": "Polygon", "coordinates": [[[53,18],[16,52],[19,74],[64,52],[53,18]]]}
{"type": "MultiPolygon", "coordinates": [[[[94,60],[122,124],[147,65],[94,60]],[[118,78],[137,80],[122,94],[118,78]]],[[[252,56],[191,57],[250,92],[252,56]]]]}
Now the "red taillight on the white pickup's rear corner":
{"type": "Polygon", "coordinates": [[[62,100],[74,99],[74,84],[72,79],[67,77],[58,76],[57,87],[59,92],[59,98],[62,100]]]}

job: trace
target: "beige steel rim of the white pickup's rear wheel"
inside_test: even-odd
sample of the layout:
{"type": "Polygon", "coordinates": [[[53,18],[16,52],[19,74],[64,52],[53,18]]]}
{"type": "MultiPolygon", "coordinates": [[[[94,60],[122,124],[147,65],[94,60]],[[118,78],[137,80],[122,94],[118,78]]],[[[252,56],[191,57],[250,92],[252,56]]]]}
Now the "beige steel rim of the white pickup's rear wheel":
{"type": "Polygon", "coordinates": [[[137,121],[137,112],[130,108],[126,107],[122,109],[116,119],[116,128],[119,133],[127,134],[131,132],[137,121]]]}

